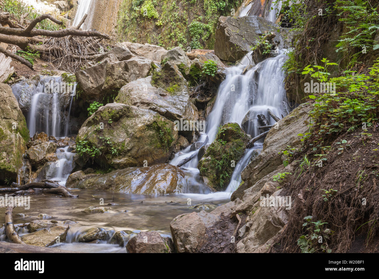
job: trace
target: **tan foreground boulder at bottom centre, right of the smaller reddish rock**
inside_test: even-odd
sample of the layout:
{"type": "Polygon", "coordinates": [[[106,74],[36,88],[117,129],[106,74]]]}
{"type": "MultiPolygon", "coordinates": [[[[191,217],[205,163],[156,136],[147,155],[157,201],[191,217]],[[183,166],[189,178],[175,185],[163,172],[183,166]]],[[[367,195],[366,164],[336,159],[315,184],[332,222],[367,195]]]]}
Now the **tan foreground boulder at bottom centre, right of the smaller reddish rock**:
{"type": "Polygon", "coordinates": [[[219,217],[204,210],[176,216],[170,223],[172,240],[179,253],[198,252],[207,241],[207,228],[213,226],[219,217]]]}

